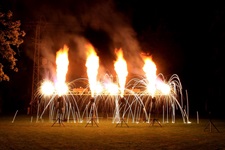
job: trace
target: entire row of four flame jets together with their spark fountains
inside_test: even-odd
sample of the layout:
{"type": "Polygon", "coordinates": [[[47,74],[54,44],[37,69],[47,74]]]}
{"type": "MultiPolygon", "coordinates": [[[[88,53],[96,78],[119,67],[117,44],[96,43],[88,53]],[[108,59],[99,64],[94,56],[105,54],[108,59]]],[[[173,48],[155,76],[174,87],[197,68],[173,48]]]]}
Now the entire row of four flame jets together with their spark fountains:
{"type": "Polygon", "coordinates": [[[139,123],[141,118],[143,122],[151,122],[153,108],[151,98],[155,97],[154,107],[157,108],[157,113],[162,114],[163,123],[168,123],[170,117],[171,122],[175,123],[175,112],[178,109],[183,122],[190,123],[188,99],[185,99],[182,94],[182,85],[178,75],[172,75],[168,81],[162,73],[156,75],[156,65],[151,57],[143,57],[145,76],[136,75],[128,80],[127,64],[123,58],[122,49],[118,49],[115,51],[117,61],[114,64],[117,80],[113,81],[109,74],[105,74],[98,80],[99,58],[92,45],[88,44],[86,45],[88,78],[78,78],[66,83],[68,47],[64,46],[64,49],[66,50],[63,53],[57,54],[56,62],[60,63],[57,64],[55,84],[45,80],[40,91],[36,93],[40,99],[37,118],[43,119],[44,115],[48,114],[49,120],[52,121],[57,111],[56,98],[61,95],[65,102],[62,116],[67,122],[72,120],[74,123],[82,123],[86,118],[86,126],[89,123],[93,125],[96,123],[93,119],[99,122],[100,113],[102,116],[112,116],[112,123],[117,123],[117,125],[125,123],[128,127],[129,121],[139,123]],[[60,57],[64,59],[59,61],[60,57]],[[124,101],[121,102],[121,100],[124,101]],[[186,100],[186,106],[184,106],[184,100],[186,100]]]}

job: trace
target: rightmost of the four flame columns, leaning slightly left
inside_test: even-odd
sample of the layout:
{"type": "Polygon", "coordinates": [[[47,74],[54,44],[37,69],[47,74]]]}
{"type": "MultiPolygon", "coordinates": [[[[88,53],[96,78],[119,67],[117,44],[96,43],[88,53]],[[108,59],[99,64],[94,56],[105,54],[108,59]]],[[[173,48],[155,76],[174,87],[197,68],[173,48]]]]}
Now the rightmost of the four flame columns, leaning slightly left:
{"type": "Polygon", "coordinates": [[[156,91],[156,65],[152,61],[152,57],[143,57],[144,59],[144,67],[143,70],[145,72],[146,78],[148,80],[148,92],[154,97],[156,91]]]}

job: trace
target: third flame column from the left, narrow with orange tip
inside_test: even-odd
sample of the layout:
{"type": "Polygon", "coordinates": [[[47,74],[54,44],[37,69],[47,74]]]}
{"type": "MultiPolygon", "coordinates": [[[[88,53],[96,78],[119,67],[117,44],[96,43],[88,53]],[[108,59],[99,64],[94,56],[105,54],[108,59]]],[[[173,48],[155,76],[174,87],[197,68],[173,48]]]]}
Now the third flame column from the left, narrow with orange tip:
{"type": "Polygon", "coordinates": [[[128,75],[127,63],[123,58],[122,49],[116,50],[115,53],[117,55],[117,60],[114,64],[114,68],[115,68],[115,71],[117,73],[118,80],[119,80],[120,96],[123,97],[125,84],[126,84],[126,78],[127,78],[127,75],[128,75]]]}

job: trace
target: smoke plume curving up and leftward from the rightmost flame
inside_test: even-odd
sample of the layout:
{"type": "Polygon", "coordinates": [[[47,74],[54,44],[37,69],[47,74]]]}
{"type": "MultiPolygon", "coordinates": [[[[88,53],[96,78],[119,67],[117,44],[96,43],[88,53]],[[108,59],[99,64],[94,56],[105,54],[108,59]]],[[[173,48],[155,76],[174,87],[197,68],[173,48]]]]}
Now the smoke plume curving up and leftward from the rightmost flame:
{"type": "Polygon", "coordinates": [[[112,41],[110,45],[111,55],[114,55],[116,48],[122,48],[129,72],[140,73],[140,66],[143,65],[143,62],[140,57],[141,49],[136,39],[136,33],[130,25],[129,18],[116,11],[112,1],[94,5],[82,17],[85,25],[96,30],[104,30],[109,35],[112,41]]]}

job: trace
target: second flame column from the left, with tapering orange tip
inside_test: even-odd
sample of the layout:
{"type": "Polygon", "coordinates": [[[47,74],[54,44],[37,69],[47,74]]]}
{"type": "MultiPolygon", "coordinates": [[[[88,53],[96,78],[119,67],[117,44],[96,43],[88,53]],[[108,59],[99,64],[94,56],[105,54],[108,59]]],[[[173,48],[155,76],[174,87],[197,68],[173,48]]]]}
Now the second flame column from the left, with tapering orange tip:
{"type": "Polygon", "coordinates": [[[97,85],[99,57],[97,56],[91,44],[87,44],[86,48],[87,48],[87,61],[86,61],[87,75],[90,84],[89,86],[91,90],[91,96],[94,97],[95,87],[97,85]]]}

